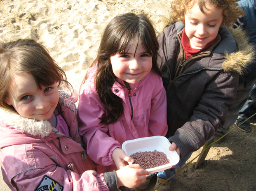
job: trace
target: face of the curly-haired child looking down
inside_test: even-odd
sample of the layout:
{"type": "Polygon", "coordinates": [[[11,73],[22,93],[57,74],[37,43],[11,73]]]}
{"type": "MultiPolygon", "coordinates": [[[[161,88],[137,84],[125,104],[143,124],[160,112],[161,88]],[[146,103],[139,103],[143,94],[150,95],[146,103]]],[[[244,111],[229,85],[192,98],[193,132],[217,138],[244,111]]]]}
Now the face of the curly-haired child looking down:
{"type": "Polygon", "coordinates": [[[201,49],[214,40],[223,20],[223,9],[206,4],[206,14],[195,4],[185,14],[185,32],[190,48],[201,49]],[[207,8],[207,9],[206,9],[207,8]]]}

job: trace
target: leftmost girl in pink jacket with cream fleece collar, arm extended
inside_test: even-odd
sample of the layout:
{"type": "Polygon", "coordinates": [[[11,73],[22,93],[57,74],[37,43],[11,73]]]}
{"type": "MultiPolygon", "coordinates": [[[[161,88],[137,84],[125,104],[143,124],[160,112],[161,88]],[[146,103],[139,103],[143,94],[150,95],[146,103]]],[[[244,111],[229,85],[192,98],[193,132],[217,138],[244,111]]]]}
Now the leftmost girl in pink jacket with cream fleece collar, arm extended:
{"type": "Polygon", "coordinates": [[[98,174],[78,134],[72,86],[33,39],[0,44],[0,162],[12,191],[117,191],[138,186],[139,165],[98,174]]]}

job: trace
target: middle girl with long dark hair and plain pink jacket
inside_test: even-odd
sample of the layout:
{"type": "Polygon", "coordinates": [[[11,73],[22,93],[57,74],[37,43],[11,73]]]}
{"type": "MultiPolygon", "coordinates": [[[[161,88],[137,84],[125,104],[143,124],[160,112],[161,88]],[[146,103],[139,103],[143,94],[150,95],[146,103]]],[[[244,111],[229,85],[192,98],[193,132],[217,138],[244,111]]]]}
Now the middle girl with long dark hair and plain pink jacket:
{"type": "Polygon", "coordinates": [[[122,14],[106,26],[78,104],[79,133],[100,173],[133,159],[122,143],[167,133],[167,102],[157,67],[157,37],[143,15],[122,14]]]}

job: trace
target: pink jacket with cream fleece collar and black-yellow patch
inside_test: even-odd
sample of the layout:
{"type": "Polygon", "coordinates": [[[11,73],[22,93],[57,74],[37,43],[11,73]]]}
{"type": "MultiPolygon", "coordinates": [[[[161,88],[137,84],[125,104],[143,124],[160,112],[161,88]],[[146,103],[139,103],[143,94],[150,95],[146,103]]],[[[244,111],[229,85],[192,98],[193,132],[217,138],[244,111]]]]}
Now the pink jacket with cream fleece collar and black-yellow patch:
{"type": "Polygon", "coordinates": [[[0,161],[12,191],[108,191],[102,174],[81,146],[72,99],[60,93],[62,115],[70,128],[63,135],[47,121],[36,121],[1,110],[0,161]],[[68,167],[73,163],[73,168],[68,167]],[[46,189],[47,188],[47,189],[46,189]]]}

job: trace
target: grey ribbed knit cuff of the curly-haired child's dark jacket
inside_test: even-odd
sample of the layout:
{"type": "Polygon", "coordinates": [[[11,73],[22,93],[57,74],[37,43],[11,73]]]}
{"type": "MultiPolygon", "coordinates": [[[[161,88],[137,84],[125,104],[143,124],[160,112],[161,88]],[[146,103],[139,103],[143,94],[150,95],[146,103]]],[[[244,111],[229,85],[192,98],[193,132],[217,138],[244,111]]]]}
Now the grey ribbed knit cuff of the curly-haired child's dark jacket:
{"type": "Polygon", "coordinates": [[[192,136],[185,130],[177,130],[174,136],[168,138],[170,142],[174,142],[181,152],[180,158],[187,152],[193,152],[197,148],[197,144],[192,136]]]}

